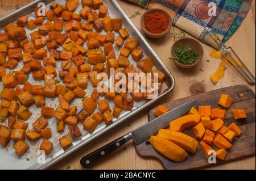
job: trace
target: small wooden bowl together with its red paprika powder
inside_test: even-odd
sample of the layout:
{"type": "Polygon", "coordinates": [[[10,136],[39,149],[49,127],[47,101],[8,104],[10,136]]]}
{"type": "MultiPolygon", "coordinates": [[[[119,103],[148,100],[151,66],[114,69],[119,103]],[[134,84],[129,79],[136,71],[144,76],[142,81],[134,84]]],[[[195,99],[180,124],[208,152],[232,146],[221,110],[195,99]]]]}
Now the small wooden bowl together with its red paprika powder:
{"type": "Polygon", "coordinates": [[[141,28],[149,37],[163,37],[170,31],[171,26],[172,18],[163,9],[151,9],[141,16],[141,28]]]}

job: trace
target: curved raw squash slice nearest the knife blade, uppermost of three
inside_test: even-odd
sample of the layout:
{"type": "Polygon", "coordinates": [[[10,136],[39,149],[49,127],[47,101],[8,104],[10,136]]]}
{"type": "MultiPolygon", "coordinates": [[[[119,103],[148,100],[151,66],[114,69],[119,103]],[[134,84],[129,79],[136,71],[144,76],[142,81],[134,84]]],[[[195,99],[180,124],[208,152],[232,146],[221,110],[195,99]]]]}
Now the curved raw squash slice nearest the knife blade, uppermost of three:
{"type": "Polygon", "coordinates": [[[186,115],[171,121],[170,130],[182,132],[185,128],[195,126],[200,121],[200,115],[186,115]]]}

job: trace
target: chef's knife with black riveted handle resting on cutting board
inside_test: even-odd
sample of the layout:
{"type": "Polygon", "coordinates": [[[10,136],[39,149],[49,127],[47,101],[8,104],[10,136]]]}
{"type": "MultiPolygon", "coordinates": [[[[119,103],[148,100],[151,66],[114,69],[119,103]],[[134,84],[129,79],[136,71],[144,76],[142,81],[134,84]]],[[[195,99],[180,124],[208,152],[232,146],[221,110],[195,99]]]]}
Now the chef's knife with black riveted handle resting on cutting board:
{"type": "Polygon", "coordinates": [[[117,140],[110,142],[108,145],[105,145],[102,148],[93,151],[92,153],[81,158],[81,165],[88,169],[93,162],[111,153],[115,149],[119,148],[121,145],[125,144],[127,141],[130,141],[131,139],[133,139],[135,145],[141,144],[142,142],[148,140],[150,136],[158,133],[158,130],[160,128],[166,128],[171,120],[177,119],[178,117],[183,116],[185,113],[187,113],[195,103],[196,100],[182,104],[181,106],[176,107],[171,111],[168,111],[164,115],[156,117],[156,119],[148,122],[142,127],[125,134],[125,136],[117,138],[117,140]]]}

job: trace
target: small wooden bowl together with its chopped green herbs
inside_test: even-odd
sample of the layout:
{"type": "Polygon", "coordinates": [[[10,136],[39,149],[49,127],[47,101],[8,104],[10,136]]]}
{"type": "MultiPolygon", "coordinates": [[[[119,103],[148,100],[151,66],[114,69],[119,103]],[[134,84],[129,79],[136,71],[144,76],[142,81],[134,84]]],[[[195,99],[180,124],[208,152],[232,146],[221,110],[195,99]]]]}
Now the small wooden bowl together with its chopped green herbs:
{"type": "Polygon", "coordinates": [[[175,41],[171,48],[170,60],[181,68],[195,67],[202,60],[204,49],[199,41],[191,38],[183,38],[175,41]]]}

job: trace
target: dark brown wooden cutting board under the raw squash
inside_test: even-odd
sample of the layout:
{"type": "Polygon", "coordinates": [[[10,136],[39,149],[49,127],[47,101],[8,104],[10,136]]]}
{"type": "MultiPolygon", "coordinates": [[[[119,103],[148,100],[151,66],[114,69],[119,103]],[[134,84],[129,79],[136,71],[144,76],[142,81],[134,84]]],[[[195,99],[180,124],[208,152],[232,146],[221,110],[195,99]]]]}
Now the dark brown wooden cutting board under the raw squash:
{"type": "MultiPolygon", "coordinates": [[[[240,129],[242,134],[236,137],[232,142],[232,147],[228,149],[228,155],[225,161],[218,161],[216,164],[225,163],[233,161],[234,159],[241,159],[248,157],[250,155],[255,155],[255,94],[246,85],[226,87],[224,89],[218,89],[214,91],[204,92],[203,94],[198,94],[194,96],[189,96],[187,98],[182,98],[179,100],[173,100],[171,102],[165,103],[172,110],[173,108],[180,106],[186,102],[197,99],[195,106],[212,105],[212,108],[222,108],[218,105],[218,99],[221,94],[229,94],[233,98],[232,107],[226,110],[224,124],[229,126],[231,123],[235,122],[240,129]],[[244,96],[241,97],[240,94],[244,96]],[[245,120],[236,121],[234,120],[232,109],[244,109],[246,111],[247,118],[245,120]]],[[[155,107],[156,108],[156,107],[155,107]]],[[[155,108],[152,108],[148,112],[148,121],[156,118],[155,108]]],[[[189,136],[194,136],[192,128],[186,129],[184,133],[189,136]]],[[[216,146],[211,145],[214,150],[218,150],[216,146]]],[[[198,169],[202,167],[210,166],[207,159],[204,156],[203,150],[201,150],[200,145],[197,146],[197,151],[195,154],[188,153],[188,158],[184,162],[176,163],[170,159],[164,157],[162,154],[158,153],[149,140],[143,142],[140,145],[135,146],[137,153],[143,157],[151,157],[158,159],[166,169],[198,169]]]]}

